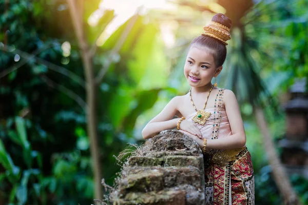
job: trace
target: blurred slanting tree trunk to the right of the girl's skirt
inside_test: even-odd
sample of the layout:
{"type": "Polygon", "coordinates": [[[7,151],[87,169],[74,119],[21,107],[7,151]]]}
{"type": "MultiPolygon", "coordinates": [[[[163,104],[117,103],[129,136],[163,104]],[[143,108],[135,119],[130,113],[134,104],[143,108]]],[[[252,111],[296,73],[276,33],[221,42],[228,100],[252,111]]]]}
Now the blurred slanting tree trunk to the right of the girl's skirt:
{"type": "Polygon", "coordinates": [[[271,165],[273,171],[273,177],[278,187],[281,196],[284,199],[285,204],[300,204],[296,193],[290,183],[287,174],[281,164],[280,158],[276,152],[274,142],[271,138],[271,134],[268,130],[267,123],[265,121],[263,110],[260,107],[255,107],[255,116],[257,124],[261,130],[263,137],[263,145],[268,157],[269,165],[271,165]]]}

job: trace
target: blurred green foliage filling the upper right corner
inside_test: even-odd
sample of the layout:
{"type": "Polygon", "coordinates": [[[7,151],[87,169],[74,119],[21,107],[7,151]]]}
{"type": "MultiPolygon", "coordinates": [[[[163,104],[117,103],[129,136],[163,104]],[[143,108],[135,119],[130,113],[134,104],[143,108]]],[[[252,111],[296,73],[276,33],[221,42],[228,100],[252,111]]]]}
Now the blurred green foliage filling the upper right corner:
{"type": "Polygon", "coordinates": [[[307,2],[302,0],[292,3],[260,1],[243,19],[246,34],[251,42],[255,42],[252,44],[253,57],[262,68],[260,75],[266,78],[265,81],[271,82],[266,87],[273,93],[288,89],[297,78],[308,76],[305,63],[308,50],[308,40],[305,37],[308,14],[302,10],[306,7],[307,2]],[[280,84],[272,84],[273,73],[275,77],[283,75],[279,80],[280,84]]]}

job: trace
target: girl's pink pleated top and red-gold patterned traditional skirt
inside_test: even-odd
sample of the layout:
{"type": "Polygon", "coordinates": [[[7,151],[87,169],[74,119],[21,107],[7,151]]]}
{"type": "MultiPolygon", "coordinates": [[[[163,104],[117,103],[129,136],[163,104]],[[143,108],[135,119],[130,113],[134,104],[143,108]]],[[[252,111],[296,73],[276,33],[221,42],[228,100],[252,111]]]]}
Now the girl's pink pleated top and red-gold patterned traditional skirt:
{"type": "MultiPolygon", "coordinates": [[[[215,108],[205,109],[211,115],[205,125],[197,127],[207,140],[232,135],[223,105],[224,89],[219,90],[215,108]]],[[[186,120],[192,121],[197,112],[186,120]]],[[[192,121],[194,122],[194,121],[192,121]]],[[[213,150],[204,155],[205,204],[255,204],[255,179],[251,154],[246,147],[233,150],[213,150]]]]}

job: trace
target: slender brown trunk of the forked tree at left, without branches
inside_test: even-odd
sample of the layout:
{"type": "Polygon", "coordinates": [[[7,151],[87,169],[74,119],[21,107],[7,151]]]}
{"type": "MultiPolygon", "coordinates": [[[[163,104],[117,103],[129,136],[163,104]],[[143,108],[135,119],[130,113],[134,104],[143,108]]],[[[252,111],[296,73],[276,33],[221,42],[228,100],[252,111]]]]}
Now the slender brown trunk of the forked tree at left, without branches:
{"type": "Polygon", "coordinates": [[[83,67],[86,78],[86,117],[87,133],[90,141],[90,153],[92,157],[92,172],[94,176],[94,198],[102,199],[102,173],[99,154],[97,119],[96,119],[96,84],[93,75],[92,54],[83,30],[83,1],[67,0],[78,45],[81,51],[83,67]]]}

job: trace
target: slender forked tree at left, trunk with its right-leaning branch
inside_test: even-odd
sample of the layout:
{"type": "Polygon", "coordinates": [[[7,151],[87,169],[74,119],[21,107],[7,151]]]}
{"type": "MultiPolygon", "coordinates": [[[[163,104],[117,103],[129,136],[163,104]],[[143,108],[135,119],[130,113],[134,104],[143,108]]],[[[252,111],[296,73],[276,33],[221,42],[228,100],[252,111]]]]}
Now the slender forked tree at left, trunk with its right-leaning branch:
{"type": "MultiPolygon", "coordinates": [[[[78,38],[78,45],[81,51],[81,57],[83,61],[83,67],[85,71],[85,79],[86,79],[86,116],[87,116],[87,130],[88,130],[88,136],[90,138],[90,151],[91,156],[93,158],[92,163],[92,169],[93,169],[93,175],[94,175],[94,197],[97,199],[102,199],[102,175],[101,175],[101,160],[99,155],[99,144],[98,144],[98,132],[97,132],[97,115],[96,115],[96,98],[97,98],[97,89],[98,85],[101,83],[102,78],[104,77],[106,71],[108,70],[110,64],[112,63],[112,60],[115,58],[113,55],[117,55],[120,48],[122,47],[125,38],[127,37],[128,33],[130,32],[132,26],[136,22],[137,16],[134,16],[126,30],[123,32],[122,36],[120,37],[118,44],[115,46],[115,48],[111,51],[111,55],[107,57],[107,62],[105,65],[103,65],[103,68],[99,72],[98,76],[95,79],[95,76],[93,74],[94,72],[94,62],[93,57],[95,55],[95,51],[97,50],[97,42],[94,40],[92,43],[92,47],[89,45],[87,35],[86,35],[86,24],[84,24],[84,19],[89,18],[89,14],[91,14],[94,10],[98,8],[98,4],[101,1],[94,1],[91,3],[91,6],[87,6],[89,4],[85,4],[84,0],[79,1],[73,1],[73,0],[67,0],[67,3],[69,5],[69,10],[71,14],[72,23],[74,26],[75,35],[78,38]],[[94,7],[93,7],[94,5],[94,7]],[[89,11],[91,10],[91,11],[89,11]]],[[[102,21],[104,21],[104,24],[106,25],[105,21],[108,18],[108,20],[111,20],[112,17],[110,16],[104,16],[102,21]]],[[[98,35],[101,35],[101,33],[98,33],[98,35]]],[[[97,38],[98,39],[98,38],[97,38]]]]}

